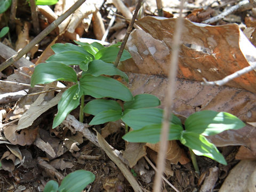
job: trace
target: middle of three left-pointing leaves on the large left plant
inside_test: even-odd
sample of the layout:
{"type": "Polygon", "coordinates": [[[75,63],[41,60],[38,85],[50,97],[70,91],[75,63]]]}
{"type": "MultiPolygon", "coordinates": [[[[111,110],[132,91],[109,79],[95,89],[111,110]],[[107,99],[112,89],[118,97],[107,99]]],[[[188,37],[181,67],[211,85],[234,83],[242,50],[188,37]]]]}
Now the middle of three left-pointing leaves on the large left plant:
{"type": "Polygon", "coordinates": [[[65,51],[51,55],[46,62],[56,61],[65,65],[80,65],[81,62],[89,62],[93,59],[90,53],[81,53],[78,51],[65,51]]]}

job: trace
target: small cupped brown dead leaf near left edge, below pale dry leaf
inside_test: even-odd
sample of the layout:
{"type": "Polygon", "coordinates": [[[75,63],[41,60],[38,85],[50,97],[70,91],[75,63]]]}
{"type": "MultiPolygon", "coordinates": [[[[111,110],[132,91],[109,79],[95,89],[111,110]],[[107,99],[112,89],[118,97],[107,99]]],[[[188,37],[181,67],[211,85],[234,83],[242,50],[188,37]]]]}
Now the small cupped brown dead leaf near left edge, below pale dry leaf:
{"type": "Polygon", "coordinates": [[[31,145],[38,134],[38,127],[35,129],[23,129],[17,132],[17,125],[12,124],[4,127],[4,136],[13,145],[31,145]]]}

